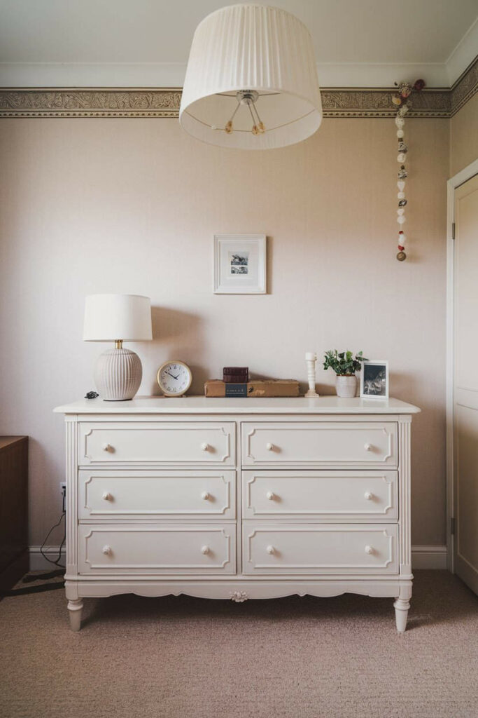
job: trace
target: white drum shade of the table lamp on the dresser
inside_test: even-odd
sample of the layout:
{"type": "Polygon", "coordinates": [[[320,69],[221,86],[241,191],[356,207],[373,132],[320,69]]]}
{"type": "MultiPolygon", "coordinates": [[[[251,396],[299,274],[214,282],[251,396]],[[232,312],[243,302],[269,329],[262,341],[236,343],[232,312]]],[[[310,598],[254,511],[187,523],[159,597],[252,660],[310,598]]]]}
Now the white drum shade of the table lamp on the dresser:
{"type": "Polygon", "coordinates": [[[89,294],[85,298],[85,342],[141,342],[153,338],[151,302],[139,294],[89,294]]]}

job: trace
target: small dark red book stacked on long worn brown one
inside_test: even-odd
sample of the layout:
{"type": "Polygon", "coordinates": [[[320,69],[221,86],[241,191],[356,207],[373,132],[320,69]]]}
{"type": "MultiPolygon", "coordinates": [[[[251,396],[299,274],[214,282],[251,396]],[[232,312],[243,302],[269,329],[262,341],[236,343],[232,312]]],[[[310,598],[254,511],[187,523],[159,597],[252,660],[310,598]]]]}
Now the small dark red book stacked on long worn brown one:
{"type": "Polygon", "coordinates": [[[204,384],[205,396],[221,398],[223,396],[299,396],[299,382],[294,379],[249,381],[247,366],[225,366],[222,381],[211,379],[204,384]]]}

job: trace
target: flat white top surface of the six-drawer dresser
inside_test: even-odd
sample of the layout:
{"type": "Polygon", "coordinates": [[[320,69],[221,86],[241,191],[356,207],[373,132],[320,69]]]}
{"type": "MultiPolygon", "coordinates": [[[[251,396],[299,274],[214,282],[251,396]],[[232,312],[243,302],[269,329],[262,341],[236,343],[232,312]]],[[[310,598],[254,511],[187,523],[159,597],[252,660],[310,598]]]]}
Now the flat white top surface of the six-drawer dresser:
{"type": "Polygon", "coordinates": [[[80,399],[57,406],[54,411],[58,414],[418,414],[421,409],[394,398],[140,396],[130,401],[80,399]]]}

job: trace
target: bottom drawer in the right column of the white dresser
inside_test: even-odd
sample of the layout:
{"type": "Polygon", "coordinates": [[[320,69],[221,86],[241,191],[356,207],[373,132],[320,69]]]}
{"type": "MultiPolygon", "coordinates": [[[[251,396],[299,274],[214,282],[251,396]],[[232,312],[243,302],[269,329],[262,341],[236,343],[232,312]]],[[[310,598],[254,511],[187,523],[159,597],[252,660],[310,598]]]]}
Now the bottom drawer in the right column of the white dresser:
{"type": "Polygon", "coordinates": [[[244,522],[244,574],[396,574],[398,526],[244,522]]]}

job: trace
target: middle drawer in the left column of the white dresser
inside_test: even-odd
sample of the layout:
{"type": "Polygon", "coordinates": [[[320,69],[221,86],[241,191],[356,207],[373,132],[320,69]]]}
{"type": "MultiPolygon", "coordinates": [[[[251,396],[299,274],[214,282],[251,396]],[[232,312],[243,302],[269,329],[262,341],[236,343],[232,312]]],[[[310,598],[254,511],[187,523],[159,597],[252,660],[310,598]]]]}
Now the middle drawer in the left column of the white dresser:
{"type": "Polygon", "coordinates": [[[236,472],[81,469],[79,516],[236,518],[236,472]]]}

